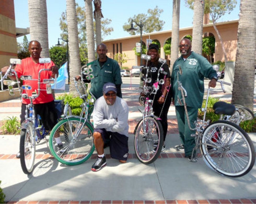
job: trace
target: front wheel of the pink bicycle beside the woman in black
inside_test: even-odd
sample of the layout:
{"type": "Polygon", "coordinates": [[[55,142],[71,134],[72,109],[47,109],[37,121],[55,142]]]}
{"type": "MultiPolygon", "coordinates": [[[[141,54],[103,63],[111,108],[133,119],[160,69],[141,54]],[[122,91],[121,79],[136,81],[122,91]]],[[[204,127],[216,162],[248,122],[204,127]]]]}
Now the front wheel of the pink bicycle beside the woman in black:
{"type": "Polygon", "coordinates": [[[134,137],[134,150],[141,163],[150,164],[159,157],[162,151],[164,131],[159,120],[146,117],[144,121],[150,131],[143,131],[143,120],[141,120],[134,137]]]}

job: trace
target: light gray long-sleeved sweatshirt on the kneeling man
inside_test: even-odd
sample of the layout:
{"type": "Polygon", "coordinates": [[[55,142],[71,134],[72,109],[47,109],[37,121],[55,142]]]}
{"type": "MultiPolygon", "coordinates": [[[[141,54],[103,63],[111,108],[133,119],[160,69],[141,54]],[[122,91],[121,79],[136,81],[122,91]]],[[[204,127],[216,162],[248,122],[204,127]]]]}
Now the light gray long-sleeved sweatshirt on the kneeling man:
{"type": "Polygon", "coordinates": [[[93,126],[95,129],[105,128],[128,137],[128,113],[126,102],[117,96],[113,105],[108,105],[104,96],[95,101],[93,109],[93,126]]]}

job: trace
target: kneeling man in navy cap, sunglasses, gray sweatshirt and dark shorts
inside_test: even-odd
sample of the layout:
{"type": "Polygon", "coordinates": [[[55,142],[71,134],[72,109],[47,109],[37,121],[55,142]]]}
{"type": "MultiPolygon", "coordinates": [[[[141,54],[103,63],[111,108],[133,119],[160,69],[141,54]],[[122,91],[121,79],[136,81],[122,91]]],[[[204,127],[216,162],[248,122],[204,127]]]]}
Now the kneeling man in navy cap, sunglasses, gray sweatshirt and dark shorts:
{"type": "Polygon", "coordinates": [[[109,141],[110,156],[125,163],[128,157],[128,106],[117,96],[113,83],[103,85],[103,96],[94,104],[94,145],[98,153],[92,171],[99,171],[106,165],[104,144],[109,141]]]}

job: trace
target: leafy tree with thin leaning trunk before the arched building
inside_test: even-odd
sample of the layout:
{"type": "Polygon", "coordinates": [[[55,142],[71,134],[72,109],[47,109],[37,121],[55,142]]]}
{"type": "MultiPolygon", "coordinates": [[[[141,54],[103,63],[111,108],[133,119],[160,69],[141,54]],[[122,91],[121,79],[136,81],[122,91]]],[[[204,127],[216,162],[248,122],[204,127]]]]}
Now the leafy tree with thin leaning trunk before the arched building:
{"type": "MultiPolygon", "coordinates": [[[[189,8],[194,8],[194,0],[186,1],[189,8]]],[[[235,8],[236,0],[205,0],[205,14],[210,14],[211,21],[213,23],[213,28],[216,31],[218,38],[220,40],[220,44],[222,45],[222,50],[224,53],[225,62],[227,60],[226,50],[223,44],[222,37],[219,34],[219,31],[216,27],[216,22],[226,13],[230,14],[230,12],[235,8]]]]}

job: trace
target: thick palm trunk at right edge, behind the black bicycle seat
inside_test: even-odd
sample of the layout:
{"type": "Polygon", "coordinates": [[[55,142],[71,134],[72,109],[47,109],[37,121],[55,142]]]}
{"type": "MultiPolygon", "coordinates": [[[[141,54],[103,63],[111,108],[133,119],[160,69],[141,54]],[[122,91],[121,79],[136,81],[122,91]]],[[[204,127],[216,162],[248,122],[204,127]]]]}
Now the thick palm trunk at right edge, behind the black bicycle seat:
{"type": "Polygon", "coordinates": [[[254,66],[256,51],[256,12],[254,0],[240,1],[237,33],[237,50],[232,103],[240,104],[253,110],[254,66]]]}

